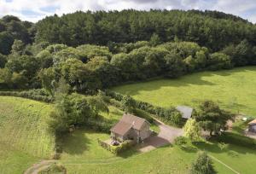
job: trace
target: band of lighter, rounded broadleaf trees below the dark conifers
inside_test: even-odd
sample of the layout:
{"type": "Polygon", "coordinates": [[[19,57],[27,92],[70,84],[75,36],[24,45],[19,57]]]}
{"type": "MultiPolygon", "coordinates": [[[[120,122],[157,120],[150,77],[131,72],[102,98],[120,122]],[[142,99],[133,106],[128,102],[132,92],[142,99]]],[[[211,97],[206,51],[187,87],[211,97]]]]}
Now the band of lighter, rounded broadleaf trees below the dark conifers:
{"type": "Polygon", "coordinates": [[[256,47],[247,40],[211,52],[179,39],[161,43],[153,34],[149,41],[112,44],[25,44],[15,40],[9,55],[0,55],[0,88],[38,89],[54,95],[55,84],[65,78],[74,91],[93,92],[131,81],[154,77],[177,78],[204,70],[255,65],[256,47]]]}

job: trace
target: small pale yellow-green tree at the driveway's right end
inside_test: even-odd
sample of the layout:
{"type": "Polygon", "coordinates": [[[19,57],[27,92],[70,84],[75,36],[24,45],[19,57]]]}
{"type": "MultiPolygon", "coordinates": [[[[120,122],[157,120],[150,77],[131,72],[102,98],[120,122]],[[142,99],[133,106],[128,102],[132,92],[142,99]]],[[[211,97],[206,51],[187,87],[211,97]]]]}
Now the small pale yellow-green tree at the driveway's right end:
{"type": "Polygon", "coordinates": [[[184,136],[189,138],[192,142],[201,139],[201,129],[195,119],[188,119],[183,127],[184,136]]]}

